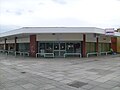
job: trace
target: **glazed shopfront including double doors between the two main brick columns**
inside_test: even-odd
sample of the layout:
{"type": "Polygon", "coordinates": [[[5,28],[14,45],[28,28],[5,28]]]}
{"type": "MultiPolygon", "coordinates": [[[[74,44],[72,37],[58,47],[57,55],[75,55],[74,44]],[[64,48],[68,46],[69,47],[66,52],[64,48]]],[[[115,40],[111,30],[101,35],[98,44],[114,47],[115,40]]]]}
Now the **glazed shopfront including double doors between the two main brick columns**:
{"type": "Polygon", "coordinates": [[[80,42],[38,42],[39,53],[54,53],[55,57],[64,57],[65,53],[81,53],[80,42]]]}

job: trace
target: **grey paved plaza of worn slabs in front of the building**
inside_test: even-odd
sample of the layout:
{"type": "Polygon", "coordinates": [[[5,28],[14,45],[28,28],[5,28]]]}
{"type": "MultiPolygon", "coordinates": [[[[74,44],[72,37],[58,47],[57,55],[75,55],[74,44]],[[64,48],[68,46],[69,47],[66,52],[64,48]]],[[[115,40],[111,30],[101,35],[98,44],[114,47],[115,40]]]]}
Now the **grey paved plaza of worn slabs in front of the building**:
{"type": "Polygon", "coordinates": [[[120,90],[120,56],[44,59],[0,55],[0,90],[120,90]]]}

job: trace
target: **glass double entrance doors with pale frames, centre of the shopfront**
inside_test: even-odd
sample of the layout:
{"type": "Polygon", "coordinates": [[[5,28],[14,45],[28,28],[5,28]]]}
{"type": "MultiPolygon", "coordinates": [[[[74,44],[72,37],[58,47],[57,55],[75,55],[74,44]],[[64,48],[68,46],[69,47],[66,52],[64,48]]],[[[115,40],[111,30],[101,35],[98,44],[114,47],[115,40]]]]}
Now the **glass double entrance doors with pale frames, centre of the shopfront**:
{"type": "Polygon", "coordinates": [[[57,42],[54,43],[54,55],[55,57],[64,57],[65,53],[65,43],[64,42],[57,42]]]}

